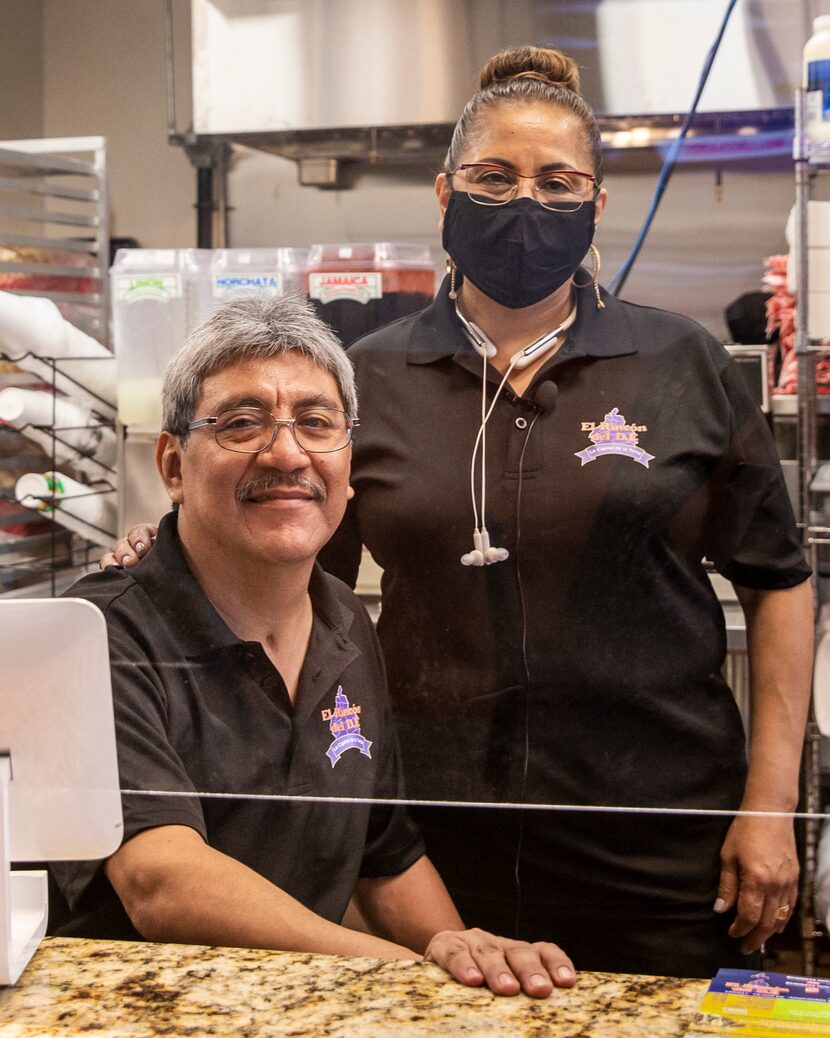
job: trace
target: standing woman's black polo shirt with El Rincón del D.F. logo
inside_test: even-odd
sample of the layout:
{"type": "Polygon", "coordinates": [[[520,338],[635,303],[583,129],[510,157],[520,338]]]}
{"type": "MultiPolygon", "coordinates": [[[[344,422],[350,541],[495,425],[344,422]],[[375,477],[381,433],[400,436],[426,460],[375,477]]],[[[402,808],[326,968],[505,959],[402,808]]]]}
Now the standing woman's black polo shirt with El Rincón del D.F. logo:
{"type": "MultiPolygon", "coordinates": [[[[356,495],[327,569],[384,569],[379,634],[418,798],[728,809],[744,733],[701,564],[809,574],[766,420],[694,322],[579,294],[561,350],[487,427],[487,526],[465,567],[481,360],[447,298],[358,342],[356,495]],[[534,407],[545,380],[553,406],[534,407]]],[[[498,376],[489,373],[492,400],[498,376]]],[[[478,477],[476,475],[476,488],[478,477]]],[[[476,489],[478,499],[478,489],[476,489]]]]}

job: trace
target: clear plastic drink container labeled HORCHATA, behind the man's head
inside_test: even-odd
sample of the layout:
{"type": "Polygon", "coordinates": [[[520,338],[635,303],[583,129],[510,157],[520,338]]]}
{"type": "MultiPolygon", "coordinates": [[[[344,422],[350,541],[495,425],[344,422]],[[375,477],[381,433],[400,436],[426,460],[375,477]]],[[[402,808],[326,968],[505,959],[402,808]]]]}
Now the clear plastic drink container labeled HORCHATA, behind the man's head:
{"type": "Polygon", "coordinates": [[[270,299],[305,290],[308,249],[214,249],[213,304],[240,296],[270,299]]]}

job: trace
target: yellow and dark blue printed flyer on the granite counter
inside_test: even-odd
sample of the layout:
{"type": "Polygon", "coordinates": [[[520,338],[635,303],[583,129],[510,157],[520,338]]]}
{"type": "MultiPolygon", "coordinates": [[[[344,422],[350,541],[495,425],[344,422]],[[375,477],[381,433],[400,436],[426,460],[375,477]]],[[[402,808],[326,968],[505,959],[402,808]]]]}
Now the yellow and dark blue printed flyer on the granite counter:
{"type": "Polygon", "coordinates": [[[830,1038],[830,980],[719,969],[687,1034],[830,1038]]]}

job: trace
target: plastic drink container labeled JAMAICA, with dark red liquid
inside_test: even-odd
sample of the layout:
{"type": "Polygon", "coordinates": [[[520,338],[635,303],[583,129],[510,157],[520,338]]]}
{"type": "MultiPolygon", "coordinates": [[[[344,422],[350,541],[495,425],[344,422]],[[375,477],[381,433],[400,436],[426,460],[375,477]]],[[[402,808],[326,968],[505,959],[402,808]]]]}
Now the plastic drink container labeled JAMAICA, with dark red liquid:
{"type": "Polygon", "coordinates": [[[435,266],[425,245],[312,245],[306,285],[317,312],[348,347],[426,306],[435,295],[435,266]]]}

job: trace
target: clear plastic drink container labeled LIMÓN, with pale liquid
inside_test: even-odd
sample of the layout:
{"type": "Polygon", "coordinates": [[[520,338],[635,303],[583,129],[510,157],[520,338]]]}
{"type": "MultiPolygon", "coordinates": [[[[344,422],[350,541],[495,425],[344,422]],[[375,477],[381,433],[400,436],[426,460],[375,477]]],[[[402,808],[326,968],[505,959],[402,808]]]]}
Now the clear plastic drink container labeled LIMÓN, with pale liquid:
{"type": "Polygon", "coordinates": [[[168,360],[211,313],[210,249],[119,249],[110,270],[118,418],[158,428],[168,360]]]}

